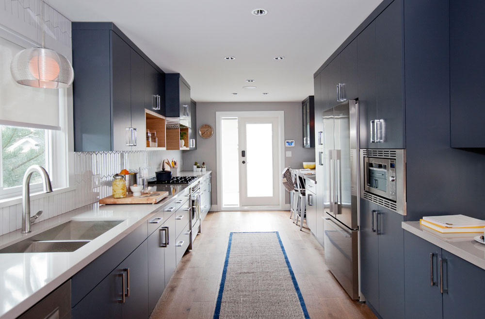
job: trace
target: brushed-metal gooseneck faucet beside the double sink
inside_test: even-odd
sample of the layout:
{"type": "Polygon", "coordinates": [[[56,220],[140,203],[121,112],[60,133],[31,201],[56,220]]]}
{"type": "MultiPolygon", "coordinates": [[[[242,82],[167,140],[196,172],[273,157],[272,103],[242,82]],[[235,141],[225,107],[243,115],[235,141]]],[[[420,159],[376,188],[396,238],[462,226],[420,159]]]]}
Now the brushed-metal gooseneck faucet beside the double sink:
{"type": "Polygon", "coordinates": [[[24,181],[22,187],[22,233],[30,233],[30,226],[35,222],[42,211],[39,210],[34,216],[30,216],[30,179],[34,172],[38,172],[42,178],[42,183],[44,184],[44,193],[50,193],[52,191],[52,185],[50,185],[49,174],[47,170],[40,165],[32,165],[27,168],[24,174],[24,181]]]}

